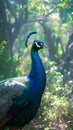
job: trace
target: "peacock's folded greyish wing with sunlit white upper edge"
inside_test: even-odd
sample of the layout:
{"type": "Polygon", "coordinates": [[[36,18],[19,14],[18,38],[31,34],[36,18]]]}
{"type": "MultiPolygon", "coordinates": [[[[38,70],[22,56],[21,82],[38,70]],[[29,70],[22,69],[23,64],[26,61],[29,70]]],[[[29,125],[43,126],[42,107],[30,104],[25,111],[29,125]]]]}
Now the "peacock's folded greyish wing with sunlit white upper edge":
{"type": "Polygon", "coordinates": [[[29,99],[29,87],[23,83],[14,78],[0,81],[0,120],[10,112],[11,108],[21,107],[23,104],[26,106],[29,99]]]}

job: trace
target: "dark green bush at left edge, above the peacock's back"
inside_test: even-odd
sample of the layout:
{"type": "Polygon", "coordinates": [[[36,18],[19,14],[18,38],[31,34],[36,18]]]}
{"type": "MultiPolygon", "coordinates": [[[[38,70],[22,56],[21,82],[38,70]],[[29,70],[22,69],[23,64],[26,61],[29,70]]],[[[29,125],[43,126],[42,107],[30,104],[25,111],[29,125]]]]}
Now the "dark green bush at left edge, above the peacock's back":
{"type": "Polygon", "coordinates": [[[18,59],[9,55],[5,45],[5,41],[0,44],[0,80],[17,75],[18,59]]]}

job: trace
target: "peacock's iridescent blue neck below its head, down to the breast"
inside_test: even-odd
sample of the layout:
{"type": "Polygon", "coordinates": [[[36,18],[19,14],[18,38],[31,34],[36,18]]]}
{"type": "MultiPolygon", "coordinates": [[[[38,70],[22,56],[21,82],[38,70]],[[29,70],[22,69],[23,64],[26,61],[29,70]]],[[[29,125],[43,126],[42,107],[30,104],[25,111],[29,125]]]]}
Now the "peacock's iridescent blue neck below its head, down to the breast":
{"type": "Polygon", "coordinates": [[[35,102],[40,103],[46,85],[46,74],[38,51],[31,50],[30,90],[35,102]]]}

